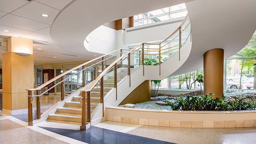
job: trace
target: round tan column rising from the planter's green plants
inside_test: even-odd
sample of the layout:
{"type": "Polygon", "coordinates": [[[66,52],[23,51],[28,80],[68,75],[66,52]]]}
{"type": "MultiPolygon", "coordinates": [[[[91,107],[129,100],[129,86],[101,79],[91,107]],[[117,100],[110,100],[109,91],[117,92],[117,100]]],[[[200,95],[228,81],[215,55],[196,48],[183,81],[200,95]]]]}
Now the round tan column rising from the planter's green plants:
{"type": "Polygon", "coordinates": [[[221,98],[223,93],[224,50],[214,48],[203,54],[203,91],[221,98]]]}

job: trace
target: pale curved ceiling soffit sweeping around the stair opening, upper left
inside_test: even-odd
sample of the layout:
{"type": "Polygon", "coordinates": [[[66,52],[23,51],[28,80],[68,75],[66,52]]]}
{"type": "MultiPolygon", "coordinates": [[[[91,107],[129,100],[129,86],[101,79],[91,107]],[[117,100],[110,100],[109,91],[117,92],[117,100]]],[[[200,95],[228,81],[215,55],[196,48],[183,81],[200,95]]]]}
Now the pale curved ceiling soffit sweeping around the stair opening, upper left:
{"type": "Polygon", "coordinates": [[[55,18],[50,35],[54,43],[63,50],[78,56],[93,58],[94,52],[88,52],[84,47],[85,38],[100,25],[192,0],[74,0],[68,4],[55,18]],[[134,5],[136,3],[136,5],[134,5]],[[125,4],[125,6],[124,6],[125,4]]]}

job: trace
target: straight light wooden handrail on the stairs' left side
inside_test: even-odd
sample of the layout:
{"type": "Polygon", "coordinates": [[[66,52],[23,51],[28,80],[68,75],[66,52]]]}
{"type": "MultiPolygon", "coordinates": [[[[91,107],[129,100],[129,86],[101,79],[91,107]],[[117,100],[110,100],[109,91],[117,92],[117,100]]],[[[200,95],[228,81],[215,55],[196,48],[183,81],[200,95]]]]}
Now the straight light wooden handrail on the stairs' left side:
{"type": "Polygon", "coordinates": [[[128,50],[128,49],[120,48],[120,49],[118,49],[118,50],[109,52],[108,54],[102,55],[102,56],[100,56],[100,57],[98,57],[98,58],[95,58],[95,59],[92,59],[92,60],[90,60],[90,61],[88,61],[88,62],[85,62],[85,63],[83,63],[83,64],[80,64],[80,65],[78,65],[78,66],[76,66],[76,67],[74,67],[74,68],[72,68],[72,69],[70,69],[70,70],[68,70],[68,71],[66,71],[66,72],[64,72],[64,73],[62,73],[62,74],[56,76],[56,77],[54,77],[53,79],[51,79],[51,80],[45,82],[44,84],[38,86],[37,88],[26,89],[26,90],[41,90],[42,88],[44,88],[44,87],[46,87],[47,85],[49,85],[49,84],[51,84],[52,82],[54,82],[55,80],[58,80],[58,79],[61,78],[62,76],[67,75],[68,73],[70,73],[70,72],[76,70],[77,68],[80,68],[80,67],[82,67],[83,65],[87,65],[87,64],[89,64],[89,63],[92,63],[92,62],[94,62],[95,60],[101,59],[101,58],[103,58],[104,56],[110,55],[110,54],[112,54],[112,53],[114,53],[114,52],[117,52],[117,51],[120,51],[120,50],[128,50]]]}

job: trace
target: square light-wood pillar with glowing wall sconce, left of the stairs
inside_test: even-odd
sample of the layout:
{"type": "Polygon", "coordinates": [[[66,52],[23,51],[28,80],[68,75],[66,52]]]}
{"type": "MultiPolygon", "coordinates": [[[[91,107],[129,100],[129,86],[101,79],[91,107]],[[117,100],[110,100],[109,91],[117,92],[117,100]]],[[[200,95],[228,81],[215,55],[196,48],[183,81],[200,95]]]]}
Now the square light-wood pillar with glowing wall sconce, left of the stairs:
{"type": "Polygon", "coordinates": [[[7,41],[8,52],[4,53],[2,58],[3,109],[26,109],[28,108],[26,89],[33,88],[33,55],[21,56],[15,52],[33,54],[33,41],[16,37],[8,37],[7,41]]]}

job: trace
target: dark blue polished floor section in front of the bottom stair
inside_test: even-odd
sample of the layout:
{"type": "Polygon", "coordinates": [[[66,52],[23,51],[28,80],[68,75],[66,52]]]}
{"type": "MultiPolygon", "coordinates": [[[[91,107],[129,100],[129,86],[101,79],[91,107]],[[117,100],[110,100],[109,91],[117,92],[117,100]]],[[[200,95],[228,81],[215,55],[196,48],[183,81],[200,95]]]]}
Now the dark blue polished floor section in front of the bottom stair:
{"type": "Polygon", "coordinates": [[[89,144],[174,144],[167,141],[130,135],[122,132],[91,127],[88,130],[68,130],[62,128],[41,127],[48,131],[70,137],[89,144]]]}

